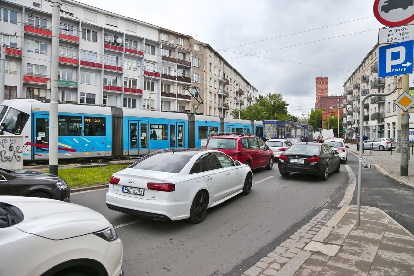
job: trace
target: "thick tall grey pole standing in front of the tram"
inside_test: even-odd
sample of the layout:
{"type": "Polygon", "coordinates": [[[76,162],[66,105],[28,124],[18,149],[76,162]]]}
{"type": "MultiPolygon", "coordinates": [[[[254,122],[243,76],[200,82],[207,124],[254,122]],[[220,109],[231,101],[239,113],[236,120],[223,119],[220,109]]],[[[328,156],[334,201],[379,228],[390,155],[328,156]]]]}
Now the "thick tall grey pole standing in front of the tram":
{"type": "Polygon", "coordinates": [[[52,13],[52,58],[51,58],[51,102],[49,112],[49,173],[58,174],[58,113],[57,86],[59,70],[59,22],[60,0],[53,0],[52,13]]]}

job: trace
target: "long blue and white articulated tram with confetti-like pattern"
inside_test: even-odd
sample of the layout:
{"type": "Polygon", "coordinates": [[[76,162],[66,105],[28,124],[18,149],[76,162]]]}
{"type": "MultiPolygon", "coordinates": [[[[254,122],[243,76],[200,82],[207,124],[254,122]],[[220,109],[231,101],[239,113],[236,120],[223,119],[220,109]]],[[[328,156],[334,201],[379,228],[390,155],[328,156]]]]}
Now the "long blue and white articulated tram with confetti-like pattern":
{"type": "MultiPolygon", "coordinates": [[[[49,159],[49,103],[5,100],[0,105],[4,134],[23,136],[23,159],[49,159]]],[[[177,112],[59,104],[58,158],[146,155],[164,148],[204,147],[219,132],[263,137],[263,122],[177,112]]]]}

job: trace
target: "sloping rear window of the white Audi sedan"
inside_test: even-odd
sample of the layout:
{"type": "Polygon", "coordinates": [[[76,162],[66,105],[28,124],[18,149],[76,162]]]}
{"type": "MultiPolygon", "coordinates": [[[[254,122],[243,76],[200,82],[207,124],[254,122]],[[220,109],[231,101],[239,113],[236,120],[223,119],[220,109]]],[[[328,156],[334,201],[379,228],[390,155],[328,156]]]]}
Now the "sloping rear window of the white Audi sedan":
{"type": "Polygon", "coordinates": [[[154,155],[147,155],[132,164],[130,168],[151,170],[168,173],[179,173],[190,161],[193,155],[188,152],[166,152],[154,155]]]}

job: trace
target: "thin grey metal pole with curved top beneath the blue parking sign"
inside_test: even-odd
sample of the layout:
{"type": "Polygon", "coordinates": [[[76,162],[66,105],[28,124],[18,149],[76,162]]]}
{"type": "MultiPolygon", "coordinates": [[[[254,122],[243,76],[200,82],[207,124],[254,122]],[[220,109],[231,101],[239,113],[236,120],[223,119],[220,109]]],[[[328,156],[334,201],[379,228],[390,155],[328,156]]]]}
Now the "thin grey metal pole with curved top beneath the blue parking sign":
{"type": "MultiPolygon", "coordinates": [[[[394,77],[394,83],[393,88],[390,92],[384,94],[381,93],[381,96],[388,96],[394,93],[394,91],[397,88],[397,76],[394,77]]],[[[361,213],[361,180],[362,180],[362,151],[363,151],[363,104],[365,103],[365,100],[369,97],[379,95],[379,93],[374,94],[368,94],[366,95],[361,103],[360,103],[360,151],[359,151],[359,163],[358,163],[358,192],[357,192],[357,222],[356,225],[360,225],[360,213],[361,213]],[[362,134],[362,135],[361,135],[362,134]]]]}

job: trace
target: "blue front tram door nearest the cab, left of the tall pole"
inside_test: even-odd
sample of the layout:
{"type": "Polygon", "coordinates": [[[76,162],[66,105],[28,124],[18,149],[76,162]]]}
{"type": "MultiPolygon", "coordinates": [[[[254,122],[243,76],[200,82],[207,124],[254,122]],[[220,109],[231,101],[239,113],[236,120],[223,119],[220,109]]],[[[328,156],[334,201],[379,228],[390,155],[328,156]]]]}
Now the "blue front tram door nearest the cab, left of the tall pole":
{"type": "Polygon", "coordinates": [[[33,120],[32,159],[44,159],[49,153],[49,116],[35,114],[33,120]]]}

